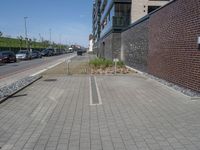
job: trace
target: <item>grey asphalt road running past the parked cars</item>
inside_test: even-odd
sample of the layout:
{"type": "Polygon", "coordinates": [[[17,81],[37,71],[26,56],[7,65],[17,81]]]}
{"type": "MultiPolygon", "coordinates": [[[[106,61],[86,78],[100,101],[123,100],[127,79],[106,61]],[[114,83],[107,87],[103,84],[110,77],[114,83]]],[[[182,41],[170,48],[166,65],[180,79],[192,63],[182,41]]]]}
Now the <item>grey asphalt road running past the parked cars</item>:
{"type": "Polygon", "coordinates": [[[41,59],[33,59],[33,60],[26,60],[26,61],[20,61],[17,63],[8,63],[3,66],[0,66],[0,79],[23,72],[25,70],[32,69],[34,67],[38,67],[40,65],[49,63],[51,61],[54,61],[56,59],[61,59],[64,57],[67,57],[71,54],[65,54],[65,55],[59,55],[59,56],[52,56],[52,57],[43,57],[41,59]]]}

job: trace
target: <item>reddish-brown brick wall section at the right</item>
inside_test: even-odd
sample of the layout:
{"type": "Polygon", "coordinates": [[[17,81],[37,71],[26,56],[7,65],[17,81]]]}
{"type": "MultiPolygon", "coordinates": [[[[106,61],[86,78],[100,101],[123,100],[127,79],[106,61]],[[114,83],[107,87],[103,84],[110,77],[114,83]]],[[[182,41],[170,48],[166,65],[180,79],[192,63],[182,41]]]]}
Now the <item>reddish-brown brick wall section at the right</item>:
{"type": "Polygon", "coordinates": [[[200,0],[176,0],[149,19],[149,73],[200,91],[200,0]]]}

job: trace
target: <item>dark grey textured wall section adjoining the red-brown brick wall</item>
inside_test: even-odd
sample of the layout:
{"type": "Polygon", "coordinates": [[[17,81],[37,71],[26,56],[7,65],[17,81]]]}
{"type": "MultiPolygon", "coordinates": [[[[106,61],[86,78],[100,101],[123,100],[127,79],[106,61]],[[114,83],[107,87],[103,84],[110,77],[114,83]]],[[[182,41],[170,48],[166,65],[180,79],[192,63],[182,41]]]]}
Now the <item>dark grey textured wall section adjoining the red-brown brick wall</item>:
{"type": "Polygon", "coordinates": [[[121,34],[121,59],[126,65],[147,71],[148,20],[145,19],[121,34]]]}

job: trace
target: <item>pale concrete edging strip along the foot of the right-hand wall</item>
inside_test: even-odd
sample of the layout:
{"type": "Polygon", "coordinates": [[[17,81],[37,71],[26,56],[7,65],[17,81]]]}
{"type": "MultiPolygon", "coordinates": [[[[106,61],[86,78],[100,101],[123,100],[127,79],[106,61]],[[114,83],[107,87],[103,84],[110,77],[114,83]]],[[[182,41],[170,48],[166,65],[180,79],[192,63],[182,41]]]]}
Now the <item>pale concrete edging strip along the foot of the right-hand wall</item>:
{"type": "MultiPolygon", "coordinates": [[[[155,80],[155,79],[153,79],[153,78],[150,78],[149,76],[145,75],[145,73],[142,72],[142,71],[139,71],[139,70],[137,70],[137,69],[135,69],[135,68],[132,68],[132,67],[130,67],[130,66],[126,66],[126,68],[128,68],[128,69],[130,69],[130,70],[133,70],[133,71],[135,71],[136,73],[138,73],[138,74],[140,74],[140,75],[142,75],[142,76],[144,76],[144,77],[147,77],[147,78],[150,79],[150,80],[156,81],[156,83],[158,83],[158,84],[160,84],[160,85],[162,85],[162,86],[168,88],[169,90],[172,90],[172,91],[177,92],[177,93],[179,93],[179,94],[181,94],[181,95],[183,95],[183,96],[186,96],[186,97],[189,98],[190,100],[194,100],[194,101],[195,101],[195,100],[200,100],[200,97],[192,97],[192,96],[186,95],[186,94],[184,94],[183,92],[174,89],[173,87],[170,87],[170,86],[168,86],[168,85],[163,84],[162,82],[159,82],[159,81],[157,81],[157,80],[155,80]]],[[[162,80],[163,80],[163,79],[162,79],[162,80]]],[[[165,80],[164,80],[164,81],[165,81],[165,80]]],[[[166,82],[167,82],[167,81],[166,81],[166,82]]]]}

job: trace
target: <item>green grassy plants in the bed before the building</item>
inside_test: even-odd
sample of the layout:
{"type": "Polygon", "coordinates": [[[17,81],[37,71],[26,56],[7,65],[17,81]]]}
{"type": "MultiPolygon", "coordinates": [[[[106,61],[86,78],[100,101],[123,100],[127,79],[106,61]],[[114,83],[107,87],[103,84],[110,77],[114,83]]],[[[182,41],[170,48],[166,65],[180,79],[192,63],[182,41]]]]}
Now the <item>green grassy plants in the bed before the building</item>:
{"type": "MultiPolygon", "coordinates": [[[[114,66],[114,62],[112,60],[104,59],[104,58],[96,58],[96,59],[90,60],[89,64],[92,68],[95,68],[95,69],[100,69],[100,68],[106,69],[108,67],[114,66]]],[[[125,65],[123,61],[117,62],[117,67],[122,68],[124,66],[125,65]]]]}

